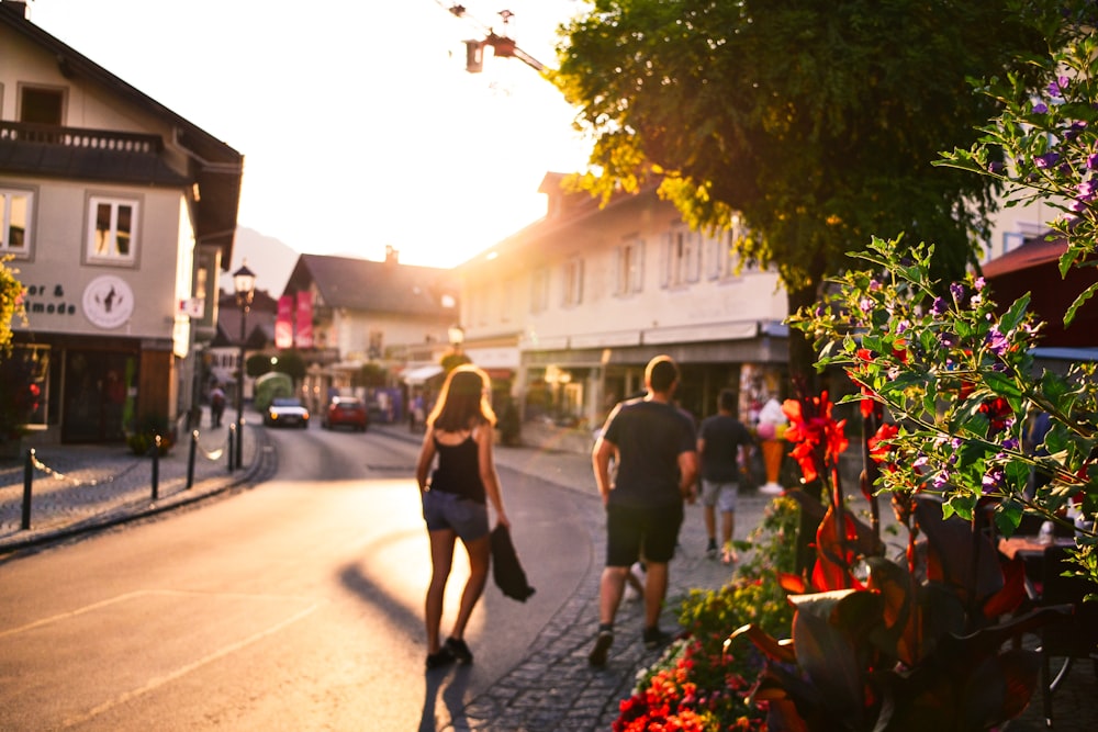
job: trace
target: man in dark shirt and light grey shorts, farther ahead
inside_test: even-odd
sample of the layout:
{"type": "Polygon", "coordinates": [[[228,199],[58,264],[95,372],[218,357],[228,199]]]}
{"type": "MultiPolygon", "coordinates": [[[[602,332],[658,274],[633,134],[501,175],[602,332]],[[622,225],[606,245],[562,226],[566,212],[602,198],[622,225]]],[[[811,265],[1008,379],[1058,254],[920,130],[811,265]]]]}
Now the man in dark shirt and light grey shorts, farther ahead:
{"type": "Polygon", "coordinates": [[[739,483],[750,464],[751,432],[736,418],[737,395],[730,388],[717,395],[717,414],[702,420],[697,454],[702,473],[702,509],[708,534],[706,554],[717,556],[717,513],[720,513],[720,561],[739,560],[732,547],[739,483]]]}

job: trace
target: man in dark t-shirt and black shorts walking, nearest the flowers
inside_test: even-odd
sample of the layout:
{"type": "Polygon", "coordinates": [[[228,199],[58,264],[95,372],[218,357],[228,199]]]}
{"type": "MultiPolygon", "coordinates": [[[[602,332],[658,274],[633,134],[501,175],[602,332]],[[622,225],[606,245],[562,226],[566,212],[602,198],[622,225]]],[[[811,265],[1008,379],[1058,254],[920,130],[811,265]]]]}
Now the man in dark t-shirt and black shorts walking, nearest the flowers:
{"type": "Polygon", "coordinates": [[[592,450],[595,483],[606,509],[606,565],[598,587],[598,634],[587,656],[604,666],[614,643],[614,619],[632,564],[645,561],[645,646],[670,640],[660,629],[683,503],[694,502],[697,452],[694,423],[673,403],[679,367],[658,356],[645,369],[643,397],[618,404],[592,450]],[[616,460],[610,480],[610,460],[616,460]]]}

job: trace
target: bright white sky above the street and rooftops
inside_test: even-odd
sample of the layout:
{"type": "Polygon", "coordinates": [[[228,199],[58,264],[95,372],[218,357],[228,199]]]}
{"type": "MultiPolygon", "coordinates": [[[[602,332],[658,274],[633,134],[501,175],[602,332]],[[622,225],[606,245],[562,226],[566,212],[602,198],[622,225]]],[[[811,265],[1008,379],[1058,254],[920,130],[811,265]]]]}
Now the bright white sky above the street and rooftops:
{"type": "Polygon", "coordinates": [[[547,66],[582,0],[31,0],[30,19],[245,156],[238,223],[302,254],[452,267],[545,215],[585,167],[574,111],[466,38],[503,31],[547,66]],[[473,24],[477,21],[479,24],[473,24]]]}

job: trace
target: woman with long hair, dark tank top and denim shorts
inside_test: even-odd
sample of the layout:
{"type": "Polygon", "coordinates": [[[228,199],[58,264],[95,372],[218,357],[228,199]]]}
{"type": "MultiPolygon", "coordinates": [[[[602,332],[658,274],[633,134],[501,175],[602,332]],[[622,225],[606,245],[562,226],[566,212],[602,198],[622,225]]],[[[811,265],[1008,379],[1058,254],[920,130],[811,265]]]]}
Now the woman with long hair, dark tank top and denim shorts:
{"type": "Polygon", "coordinates": [[[427,668],[473,655],[464,641],[466,627],[484,592],[491,563],[488,504],[496,523],[511,526],[500,493],[492,455],[495,414],[489,402],[491,381],[471,364],[449,373],[427,417],[416,482],[430,542],[430,584],[424,603],[427,628],[427,668]],[[437,458],[437,461],[436,461],[437,458]],[[469,578],[461,592],[458,617],[446,642],[440,640],[442,600],[460,539],[469,555],[469,578]]]}

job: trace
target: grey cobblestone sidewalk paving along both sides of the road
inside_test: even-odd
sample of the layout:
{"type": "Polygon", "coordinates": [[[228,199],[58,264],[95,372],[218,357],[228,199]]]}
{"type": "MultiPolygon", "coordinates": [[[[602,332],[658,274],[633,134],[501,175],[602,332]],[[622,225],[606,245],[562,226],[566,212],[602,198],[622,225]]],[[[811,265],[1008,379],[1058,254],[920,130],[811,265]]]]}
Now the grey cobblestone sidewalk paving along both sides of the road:
{"type": "MultiPolygon", "coordinates": [[[[403,426],[371,430],[418,442],[403,426]]],[[[33,548],[66,536],[100,530],[138,516],[178,508],[200,499],[254,485],[274,474],[277,455],[265,430],[245,428],[243,470],[227,469],[226,430],[200,435],[195,446],[192,487],[187,487],[189,450],[177,446],[158,463],[158,495],[152,496],[152,459],[137,458],[120,447],[65,446],[43,448],[36,457],[43,468],[33,472],[32,528],[21,530],[23,462],[0,462],[0,563],[15,549],[33,548]]],[[[502,469],[537,475],[567,489],[576,500],[590,502],[594,556],[603,555],[604,526],[591,463],[586,454],[568,450],[501,447],[502,469]]],[[[744,492],[737,510],[737,538],[761,519],[770,496],[744,492]]],[[[671,564],[669,610],[662,624],[673,629],[675,599],[691,589],[720,587],[730,570],[705,556],[705,532],[699,506],[687,507],[681,542],[671,564]]],[[[618,703],[631,695],[637,675],[651,665],[657,652],[640,642],[641,604],[625,601],[618,613],[614,645],[605,668],[592,669],[586,656],[597,629],[598,578],[595,562],[574,595],[530,642],[526,658],[466,705],[446,732],[549,732],[608,730],[618,703]]],[[[1055,695],[1056,730],[1098,729],[1098,680],[1087,662],[1076,664],[1055,695]]],[[[441,684],[460,667],[432,672],[427,683],[441,684]]],[[[1045,729],[1040,698],[1010,723],[1010,732],[1045,729]]]]}

